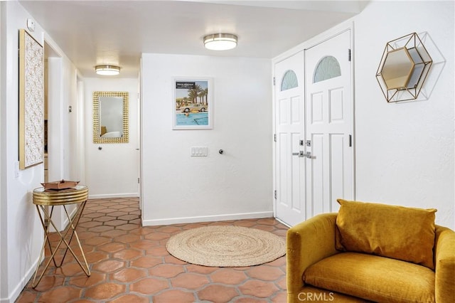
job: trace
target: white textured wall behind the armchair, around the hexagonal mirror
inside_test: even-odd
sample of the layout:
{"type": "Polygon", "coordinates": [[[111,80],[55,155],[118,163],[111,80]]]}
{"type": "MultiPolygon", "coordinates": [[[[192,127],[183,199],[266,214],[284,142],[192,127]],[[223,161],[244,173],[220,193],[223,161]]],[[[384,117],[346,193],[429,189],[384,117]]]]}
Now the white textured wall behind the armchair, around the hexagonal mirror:
{"type": "Polygon", "coordinates": [[[354,20],[357,199],[437,208],[453,229],[454,2],[372,2],[354,20]],[[413,32],[434,60],[429,97],[387,104],[375,79],[382,51],[413,32]]]}

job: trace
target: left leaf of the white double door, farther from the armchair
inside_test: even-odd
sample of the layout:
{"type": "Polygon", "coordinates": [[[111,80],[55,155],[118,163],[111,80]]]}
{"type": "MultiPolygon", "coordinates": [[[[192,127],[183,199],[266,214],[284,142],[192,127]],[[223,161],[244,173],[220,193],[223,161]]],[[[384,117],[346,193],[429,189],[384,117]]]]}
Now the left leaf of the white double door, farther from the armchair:
{"type": "Polygon", "coordinates": [[[297,156],[304,147],[303,51],[274,66],[275,81],[275,213],[289,225],[305,218],[305,160],[297,156]],[[289,80],[287,76],[295,75],[289,80]],[[293,85],[289,86],[288,84],[293,85]],[[284,85],[286,84],[286,85],[284,85]],[[294,155],[293,155],[294,154],[294,155]]]}

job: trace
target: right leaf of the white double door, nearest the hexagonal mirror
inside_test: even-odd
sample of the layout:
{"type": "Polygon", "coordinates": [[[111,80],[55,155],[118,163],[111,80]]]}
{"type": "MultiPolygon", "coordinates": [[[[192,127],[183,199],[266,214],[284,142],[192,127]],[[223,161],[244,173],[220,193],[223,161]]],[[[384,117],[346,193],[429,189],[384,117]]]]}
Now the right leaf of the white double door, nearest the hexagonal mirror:
{"type": "Polygon", "coordinates": [[[307,218],[338,211],[337,198],[352,199],[353,100],[348,60],[350,31],[305,51],[307,218]],[[324,75],[325,73],[325,75],[324,75]]]}

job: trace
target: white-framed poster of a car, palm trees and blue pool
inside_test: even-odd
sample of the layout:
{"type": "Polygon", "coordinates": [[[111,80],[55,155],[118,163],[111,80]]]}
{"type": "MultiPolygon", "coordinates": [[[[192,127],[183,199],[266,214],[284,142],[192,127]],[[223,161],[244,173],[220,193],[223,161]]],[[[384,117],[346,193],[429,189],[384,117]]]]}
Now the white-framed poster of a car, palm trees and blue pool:
{"type": "Polygon", "coordinates": [[[173,78],[173,129],[213,128],[213,80],[173,78]]]}

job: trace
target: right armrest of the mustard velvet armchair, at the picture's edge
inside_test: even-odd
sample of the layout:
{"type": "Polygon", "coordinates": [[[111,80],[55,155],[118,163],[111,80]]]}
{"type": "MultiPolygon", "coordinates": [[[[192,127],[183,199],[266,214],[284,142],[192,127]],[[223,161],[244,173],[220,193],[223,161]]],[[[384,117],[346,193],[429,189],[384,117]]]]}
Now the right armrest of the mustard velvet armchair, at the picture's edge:
{"type": "Polygon", "coordinates": [[[434,243],[436,302],[455,302],[455,232],[436,225],[434,243]]]}

